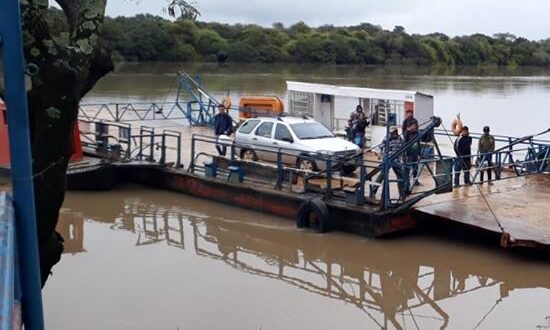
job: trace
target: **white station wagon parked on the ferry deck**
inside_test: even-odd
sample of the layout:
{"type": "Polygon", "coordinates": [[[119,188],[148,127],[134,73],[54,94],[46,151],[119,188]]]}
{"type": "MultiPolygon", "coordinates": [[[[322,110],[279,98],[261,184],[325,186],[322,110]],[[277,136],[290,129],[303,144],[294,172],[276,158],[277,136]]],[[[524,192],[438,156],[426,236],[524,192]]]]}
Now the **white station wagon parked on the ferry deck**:
{"type": "MultiPolygon", "coordinates": [[[[360,152],[355,144],[334,136],[332,132],[312,119],[299,117],[251,118],[235,133],[236,151],[244,160],[277,161],[277,151],[283,153],[285,165],[304,171],[326,168],[322,156],[333,156],[335,167],[344,175],[356,169],[360,152]]],[[[327,157],[325,157],[327,158],[327,157]]]]}

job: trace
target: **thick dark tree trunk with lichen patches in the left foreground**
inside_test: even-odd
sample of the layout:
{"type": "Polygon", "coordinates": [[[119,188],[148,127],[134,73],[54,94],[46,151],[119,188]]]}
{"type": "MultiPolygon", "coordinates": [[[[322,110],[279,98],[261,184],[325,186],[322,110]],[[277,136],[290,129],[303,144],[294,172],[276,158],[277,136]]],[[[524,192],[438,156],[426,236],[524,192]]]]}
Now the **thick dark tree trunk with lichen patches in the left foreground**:
{"type": "Polygon", "coordinates": [[[81,98],[108,72],[110,52],[98,46],[106,0],[57,0],[70,29],[66,45],[52,38],[45,15],[48,2],[21,0],[38,243],[42,285],[61,258],[63,239],[55,231],[65,198],[73,127],[81,98]]]}

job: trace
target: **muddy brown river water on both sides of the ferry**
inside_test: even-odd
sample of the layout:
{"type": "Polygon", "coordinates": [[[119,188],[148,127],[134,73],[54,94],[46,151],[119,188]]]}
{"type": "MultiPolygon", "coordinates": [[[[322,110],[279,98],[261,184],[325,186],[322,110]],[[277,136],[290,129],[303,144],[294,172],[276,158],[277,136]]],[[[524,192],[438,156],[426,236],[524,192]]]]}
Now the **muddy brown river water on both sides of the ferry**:
{"type": "MultiPolygon", "coordinates": [[[[126,65],[88,100],[168,100],[178,68],[126,65]]],[[[204,72],[219,95],[284,97],[286,79],[407,88],[434,94],[442,116],[460,108],[478,126],[495,118],[502,134],[550,123],[550,74],[533,69],[187,69],[204,72]],[[529,116],[518,110],[525,108],[529,116]]],[[[66,251],[44,290],[48,329],[550,328],[548,258],[467,237],[318,235],[287,219],[140,186],[69,192],[59,230],[66,251]]]]}

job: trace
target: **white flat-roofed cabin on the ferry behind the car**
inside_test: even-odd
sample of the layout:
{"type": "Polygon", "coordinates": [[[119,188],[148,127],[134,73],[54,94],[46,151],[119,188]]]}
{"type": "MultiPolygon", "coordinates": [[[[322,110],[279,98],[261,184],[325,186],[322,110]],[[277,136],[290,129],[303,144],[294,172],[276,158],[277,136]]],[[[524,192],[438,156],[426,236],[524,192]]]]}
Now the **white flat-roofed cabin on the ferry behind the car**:
{"type": "Polygon", "coordinates": [[[398,126],[405,110],[412,109],[420,124],[434,115],[432,95],[404,90],[334,86],[287,81],[288,112],[293,116],[313,117],[331,131],[342,134],[350,114],[360,104],[371,124],[367,146],[377,145],[386,135],[386,125],[398,126]]]}

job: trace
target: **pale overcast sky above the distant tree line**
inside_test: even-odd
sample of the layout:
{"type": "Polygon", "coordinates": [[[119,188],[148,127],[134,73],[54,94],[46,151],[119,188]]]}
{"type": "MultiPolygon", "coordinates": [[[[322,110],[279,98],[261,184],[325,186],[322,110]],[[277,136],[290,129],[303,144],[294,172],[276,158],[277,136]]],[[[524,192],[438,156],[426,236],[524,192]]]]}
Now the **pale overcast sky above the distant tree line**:
{"type": "MultiPolygon", "coordinates": [[[[107,14],[165,16],[164,0],[109,0],[107,14]]],[[[197,0],[202,21],[271,26],[304,21],[309,25],[368,22],[409,33],[493,35],[510,32],[529,39],[550,37],[550,0],[197,0]]]]}

